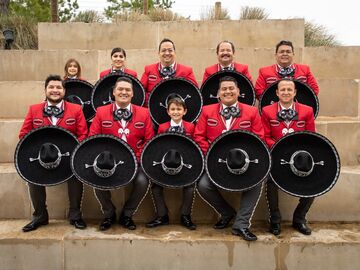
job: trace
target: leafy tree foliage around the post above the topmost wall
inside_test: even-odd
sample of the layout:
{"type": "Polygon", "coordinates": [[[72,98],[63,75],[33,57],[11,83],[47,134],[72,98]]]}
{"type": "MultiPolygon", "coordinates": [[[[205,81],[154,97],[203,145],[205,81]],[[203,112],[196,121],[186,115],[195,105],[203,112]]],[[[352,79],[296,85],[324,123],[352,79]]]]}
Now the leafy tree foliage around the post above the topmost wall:
{"type": "MultiPolygon", "coordinates": [[[[108,19],[113,18],[118,13],[124,14],[125,12],[138,11],[144,12],[144,1],[143,0],[107,0],[110,4],[104,9],[105,16],[108,19]]],[[[175,3],[175,0],[148,0],[148,10],[154,8],[169,9],[175,3]]]]}

